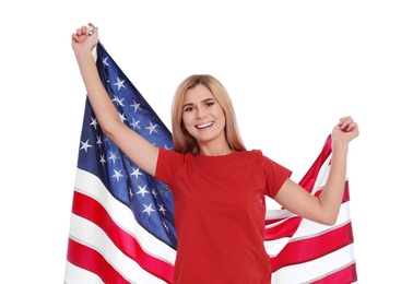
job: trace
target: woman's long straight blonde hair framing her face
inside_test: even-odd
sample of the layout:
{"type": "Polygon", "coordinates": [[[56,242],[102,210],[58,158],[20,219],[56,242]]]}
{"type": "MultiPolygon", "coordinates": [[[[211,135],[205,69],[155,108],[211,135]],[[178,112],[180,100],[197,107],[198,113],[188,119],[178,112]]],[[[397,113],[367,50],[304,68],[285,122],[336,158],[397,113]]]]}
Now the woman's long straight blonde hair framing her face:
{"type": "Polygon", "coordinates": [[[197,155],[200,152],[197,140],[189,134],[184,128],[182,113],[184,113],[184,96],[185,93],[202,84],[212,93],[213,97],[221,105],[225,115],[225,138],[231,150],[241,151],[246,150],[243,140],[239,135],[239,130],[235,117],[233,103],[224,85],[214,76],[209,74],[194,74],[185,79],[175,92],[172,105],[172,128],[174,150],[179,153],[188,153],[197,155]]]}

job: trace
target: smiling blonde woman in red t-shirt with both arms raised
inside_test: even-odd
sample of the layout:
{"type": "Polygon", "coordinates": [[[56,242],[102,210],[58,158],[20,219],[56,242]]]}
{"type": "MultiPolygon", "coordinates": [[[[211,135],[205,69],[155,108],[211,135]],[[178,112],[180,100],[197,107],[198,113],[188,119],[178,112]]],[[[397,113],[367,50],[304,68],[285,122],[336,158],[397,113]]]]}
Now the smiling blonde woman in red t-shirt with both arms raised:
{"type": "Polygon", "coordinates": [[[358,135],[351,117],[332,129],[330,174],[319,198],[291,180],[290,169],[258,150],[246,150],[229,96],[211,75],[190,75],[178,86],[172,109],[174,151],[158,149],[119,119],[92,55],[97,35],[93,24],[78,28],[72,48],[103,132],[174,193],[175,284],[271,283],[263,246],[264,196],[305,218],[335,223],[349,143],[358,135]]]}

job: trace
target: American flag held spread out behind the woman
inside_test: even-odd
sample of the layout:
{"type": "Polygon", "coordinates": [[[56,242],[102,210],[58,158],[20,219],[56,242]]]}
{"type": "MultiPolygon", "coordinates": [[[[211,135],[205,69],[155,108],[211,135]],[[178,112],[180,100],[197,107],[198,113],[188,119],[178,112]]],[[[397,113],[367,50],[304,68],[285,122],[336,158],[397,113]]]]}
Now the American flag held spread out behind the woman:
{"type": "MultiPolygon", "coordinates": [[[[172,149],[169,130],[102,43],[96,51],[101,80],[123,122],[154,145],[172,149]]],[[[329,137],[300,181],[312,194],[322,191],[330,158],[329,137]]],[[[349,180],[345,185],[333,226],[303,220],[284,209],[268,210],[264,245],[273,283],[357,281],[349,180]]],[[[131,163],[103,134],[86,98],[64,283],[172,283],[177,246],[173,204],[169,187],[131,163]]]]}

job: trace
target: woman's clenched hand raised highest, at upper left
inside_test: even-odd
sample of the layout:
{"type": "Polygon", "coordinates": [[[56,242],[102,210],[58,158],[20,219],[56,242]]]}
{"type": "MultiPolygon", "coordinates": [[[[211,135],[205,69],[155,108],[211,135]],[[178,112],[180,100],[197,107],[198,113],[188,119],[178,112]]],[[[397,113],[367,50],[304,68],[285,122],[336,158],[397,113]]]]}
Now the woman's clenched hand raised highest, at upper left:
{"type": "Polygon", "coordinates": [[[72,48],[75,54],[81,51],[92,51],[98,42],[98,28],[92,23],[87,26],[83,25],[72,34],[72,48]],[[87,34],[87,28],[92,29],[91,34],[87,34]]]}

